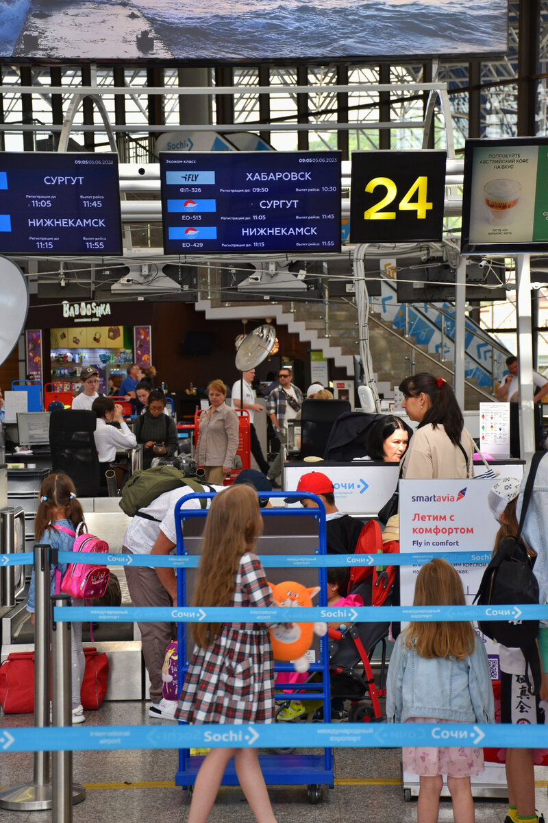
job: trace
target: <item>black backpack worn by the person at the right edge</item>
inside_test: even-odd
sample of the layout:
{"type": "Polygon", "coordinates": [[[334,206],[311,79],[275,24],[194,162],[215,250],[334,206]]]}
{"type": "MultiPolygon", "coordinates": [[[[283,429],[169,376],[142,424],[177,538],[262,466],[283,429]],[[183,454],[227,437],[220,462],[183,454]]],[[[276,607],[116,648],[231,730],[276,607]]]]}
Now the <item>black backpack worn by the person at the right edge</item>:
{"type": "Polygon", "coordinates": [[[477,625],[484,635],[508,646],[510,649],[521,649],[526,661],[525,679],[528,690],[532,695],[541,689],[541,665],[536,646],[539,621],[520,621],[520,605],[538,603],[538,581],[532,571],[534,558],[527,555],[527,548],[520,540],[527,505],[531,499],[532,486],[535,480],[536,468],[543,457],[542,452],[533,455],[531,468],[523,492],[522,512],[519,518],[518,533],[515,536],[504,537],[499,548],[487,566],[481,578],[480,588],[474,602],[480,606],[507,606],[501,609],[509,617],[501,616],[500,620],[478,621],[477,625]],[[528,671],[532,673],[531,685],[528,671]]]}

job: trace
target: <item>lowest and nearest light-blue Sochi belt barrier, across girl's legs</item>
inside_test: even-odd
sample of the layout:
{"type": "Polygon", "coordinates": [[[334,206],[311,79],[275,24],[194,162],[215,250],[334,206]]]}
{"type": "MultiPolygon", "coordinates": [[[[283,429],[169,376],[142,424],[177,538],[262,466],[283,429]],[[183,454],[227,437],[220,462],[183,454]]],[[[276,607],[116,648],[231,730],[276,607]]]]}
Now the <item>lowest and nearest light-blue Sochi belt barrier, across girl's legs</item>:
{"type": "Polygon", "coordinates": [[[254,723],[177,726],[2,728],[0,751],[107,751],[109,749],[279,748],[338,746],[548,747],[546,726],[501,723],[254,723]]]}

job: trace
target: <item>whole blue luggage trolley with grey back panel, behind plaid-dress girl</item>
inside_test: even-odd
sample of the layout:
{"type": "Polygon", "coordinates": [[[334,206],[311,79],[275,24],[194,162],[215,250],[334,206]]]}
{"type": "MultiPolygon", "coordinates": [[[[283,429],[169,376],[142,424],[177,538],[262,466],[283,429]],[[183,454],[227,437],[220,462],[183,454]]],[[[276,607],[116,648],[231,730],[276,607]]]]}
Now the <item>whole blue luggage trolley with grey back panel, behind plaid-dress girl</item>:
{"type": "MultiPolygon", "coordinates": [[[[222,492],[220,492],[222,494],[222,492]]],[[[270,492],[269,497],[283,497],[296,495],[296,492],[270,492]]],[[[191,497],[212,498],[212,494],[196,494],[191,497]]],[[[302,497],[302,493],[299,495],[302,497]]],[[[321,500],[315,495],[306,495],[313,498],[318,509],[262,509],[264,532],[257,542],[257,554],[261,557],[277,555],[280,557],[295,555],[325,555],[325,508],[321,500]]],[[[190,500],[187,495],[183,500],[190,500]]],[[[177,555],[199,555],[201,533],[204,528],[206,509],[181,509],[183,500],[175,507],[175,519],[180,523],[177,528],[177,555]],[[184,531],[184,534],[183,534],[184,531]]],[[[267,567],[265,569],[269,581],[273,584],[283,580],[294,579],[306,586],[320,585],[320,606],[327,605],[327,578],[325,568],[289,568],[267,567]]],[[[196,569],[177,569],[177,604],[187,605],[187,591],[190,594],[194,587],[196,569]]],[[[187,632],[185,623],[177,624],[178,641],[178,682],[182,684],[187,675],[189,660],[191,659],[193,641],[191,632],[187,632]],[[182,650],[182,651],[181,651],[182,650]]],[[[329,639],[314,636],[311,647],[310,672],[320,672],[320,681],[309,684],[299,684],[303,690],[299,700],[323,700],[324,722],[329,723],[330,690],[329,690],[329,639]]],[[[292,672],[289,663],[275,663],[276,672],[292,672]]],[[[277,700],[287,700],[287,683],[276,686],[277,700]]],[[[287,723],[285,724],[287,725],[287,723]]],[[[177,786],[192,789],[196,774],[203,761],[201,755],[191,755],[190,749],[179,750],[179,763],[175,783],[177,786]]],[[[321,787],[334,787],[334,757],[333,750],[326,748],[320,754],[287,754],[265,753],[259,756],[260,767],[265,776],[267,785],[302,786],[306,785],[308,799],[311,803],[320,801],[321,787]]],[[[234,762],[230,760],[221,783],[223,786],[239,785],[234,762]]]]}

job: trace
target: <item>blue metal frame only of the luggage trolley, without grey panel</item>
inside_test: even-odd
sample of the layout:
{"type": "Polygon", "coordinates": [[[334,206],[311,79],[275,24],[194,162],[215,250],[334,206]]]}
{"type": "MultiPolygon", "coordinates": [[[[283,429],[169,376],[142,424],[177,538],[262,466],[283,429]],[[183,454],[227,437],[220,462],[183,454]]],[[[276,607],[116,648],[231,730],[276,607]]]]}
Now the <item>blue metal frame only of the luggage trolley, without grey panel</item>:
{"type": "MultiPolygon", "coordinates": [[[[264,492],[263,492],[264,494],[264,492]]],[[[297,498],[297,493],[287,491],[273,491],[269,492],[269,497],[288,497],[294,495],[297,498]]],[[[318,546],[314,553],[316,555],[325,555],[325,507],[320,498],[315,495],[300,493],[298,498],[303,496],[311,497],[312,500],[318,504],[317,509],[284,509],[282,507],[274,507],[272,509],[261,509],[263,518],[295,518],[295,517],[311,517],[318,522],[318,546]]],[[[179,500],[175,506],[175,523],[177,526],[177,555],[188,555],[189,552],[185,549],[183,521],[191,518],[205,518],[207,509],[182,509],[182,504],[187,503],[191,499],[211,499],[214,494],[200,493],[187,495],[179,500]]],[[[260,546],[259,546],[260,552],[260,546]]],[[[294,556],[294,553],[293,553],[294,556]]],[[[276,555],[264,555],[264,557],[277,557],[276,555]]],[[[285,556],[279,556],[283,560],[285,556]]],[[[272,563],[271,567],[276,568],[272,563]]],[[[279,566],[277,568],[283,568],[279,566]]],[[[327,576],[325,568],[318,569],[318,579],[320,584],[320,606],[327,606],[327,576]]],[[[291,578],[291,569],[288,568],[288,577],[291,578]]],[[[177,605],[187,605],[187,575],[185,569],[177,569],[177,605]]],[[[324,704],[324,722],[329,723],[331,720],[331,703],[329,690],[329,641],[327,635],[319,638],[320,641],[320,661],[319,663],[312,663],[310,672],[322,672],[322,682],[313,683],[310,685],[299,684],[299,690],[304,689],[302,694],[299,694],[300,700],[322,700],[324,704]],[[311,691],[309,697],[306,696],[306,690],[311,691]],[[313,692],[312,692],[313,690],[313,692]]],[[[183,683],[187,675],[187,624],[177,623],[177,643],[179,653],[177,655],[177,672],[178,682],[183,683]]],[[[276,663],[274,667],[276,672],[292,672],[292,666],[288,663],[276,663]]],[[[283,693],[283,687],[287,689],[288,684],[280,684],[276,687],[276,697],[279,700],[291,700],[289,695],[283,693]]],[[[175,783],[177,786],[183,788],[192,788],[196,781],[196,774],[200,769],[200,765],[204,760],[204,756],[191,755],[190,749],[179,749],[179,762],[177,774],[175,775],[175,783]]],[[[265,776],[265,783],[267,785],[283,785],[283,786],[301,786],[306,785],[308,799],[315,803],[320,800],[321,786],[327,785],[329,788],[334,788],[334,756],[331,748],[326,748],[323,754],[266,754],[259,756],[260,768],[265,776]]],[[[237,779],[236,770],[234,768],[234,760],[231,759],[228,763],[227,769],[221,781],[223,786],[237,786],[239,781],[237,779]]]]}

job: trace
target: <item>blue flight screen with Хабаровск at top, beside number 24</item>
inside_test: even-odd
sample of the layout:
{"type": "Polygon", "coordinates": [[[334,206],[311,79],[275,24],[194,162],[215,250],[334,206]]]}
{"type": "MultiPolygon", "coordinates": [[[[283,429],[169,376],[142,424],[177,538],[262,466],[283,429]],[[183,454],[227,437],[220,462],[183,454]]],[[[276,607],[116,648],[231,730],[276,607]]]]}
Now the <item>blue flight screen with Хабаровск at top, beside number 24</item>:
{"type": "Polygon", "coordinates": [[[340,251],[340,151],[165,151],[160,179],[166,254],[340,251]]]}

